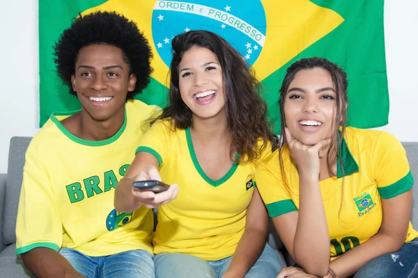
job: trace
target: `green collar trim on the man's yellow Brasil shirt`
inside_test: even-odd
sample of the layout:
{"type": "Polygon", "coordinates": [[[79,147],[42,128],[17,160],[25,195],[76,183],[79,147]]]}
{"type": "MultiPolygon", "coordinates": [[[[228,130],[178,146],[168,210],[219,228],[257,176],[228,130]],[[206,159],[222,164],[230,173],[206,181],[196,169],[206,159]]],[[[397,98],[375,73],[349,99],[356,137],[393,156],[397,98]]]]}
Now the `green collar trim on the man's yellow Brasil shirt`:
{"type": "Polygon", "coordinates": [[[90,141],[90,140],[84,140],[82,138],[78,138],[74,134],[70,133],[70,131],[65,129],[63,124],[61,124],[61,122],[56,118],[56,116],[70,116],[70,115],[73,115],[77,112],[79,112],[79,110],[78,111],[65,112],[65,113],[55,112],[55,113],[52,113],[52,115],[51,115],[51,117],[49,117],[49,119],[51,119],[52,122],[54,122],[54,124],[56,124],[56,126],[59,128],[59,130],[62,133],[64,133],[65,136],[67,136],[70,140],[72,140],[72,141],[74,141],[78,144],[91,146],[91,147],[99,147],[99,146],[108,145],[108,144],[113,143],[116,140],[118,140],[118,138],[121,137],[123,131],[125,131],[126,122],[127,122],[126,108],[125,108],[125,120],[123,120],[123,124],[121,126],[121,129],[119,129],[119,131],[116,132],[116,134],[114,136],[111,136],[111,138],[108,138],[106,140],[101,140],[101,141],[90,141]]]}

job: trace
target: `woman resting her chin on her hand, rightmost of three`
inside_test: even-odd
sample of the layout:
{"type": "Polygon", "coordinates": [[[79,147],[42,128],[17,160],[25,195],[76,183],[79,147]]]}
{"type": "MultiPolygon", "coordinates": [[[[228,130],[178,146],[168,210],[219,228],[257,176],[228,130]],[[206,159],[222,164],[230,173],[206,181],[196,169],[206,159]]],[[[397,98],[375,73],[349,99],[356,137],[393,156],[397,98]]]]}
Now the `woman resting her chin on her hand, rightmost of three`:
{"type": "Polygon", "coordinates": [[[325,58],[301,59],[286,72],[281,145],[256,172],[298,266],[279,278],[417,275],[405,149],[385,131],[346,127],[347,88],[346,73],[325,58]]]}

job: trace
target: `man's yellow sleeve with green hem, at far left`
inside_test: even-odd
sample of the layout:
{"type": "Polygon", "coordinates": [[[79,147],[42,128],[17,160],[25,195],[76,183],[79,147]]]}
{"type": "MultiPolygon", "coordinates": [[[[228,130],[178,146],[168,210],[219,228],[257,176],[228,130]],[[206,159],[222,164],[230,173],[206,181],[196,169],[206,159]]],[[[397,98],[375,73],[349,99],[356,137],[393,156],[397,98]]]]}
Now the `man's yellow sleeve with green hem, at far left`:
{"type": "Polygon", "coordinates": [[[31,142],[26,151],[17,210],[16,254],[26,253],[36,247],[58,251],[63,242],[59,208],[41,157],[36,142],[31,142]]]}

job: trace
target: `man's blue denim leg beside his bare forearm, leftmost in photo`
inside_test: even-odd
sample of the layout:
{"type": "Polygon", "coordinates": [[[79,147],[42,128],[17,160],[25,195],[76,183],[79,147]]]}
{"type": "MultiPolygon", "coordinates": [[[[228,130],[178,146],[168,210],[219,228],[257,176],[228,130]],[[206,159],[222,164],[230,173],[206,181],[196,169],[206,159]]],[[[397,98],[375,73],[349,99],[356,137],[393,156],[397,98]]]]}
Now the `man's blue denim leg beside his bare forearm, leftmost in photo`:
{"type": "Polygon", "coordinates": [[[69,261],[79,274],[87,278],[95,278],[98,273],[98,257],[91,257],[74,249],[63,248],[59,254],[69,261]]]}

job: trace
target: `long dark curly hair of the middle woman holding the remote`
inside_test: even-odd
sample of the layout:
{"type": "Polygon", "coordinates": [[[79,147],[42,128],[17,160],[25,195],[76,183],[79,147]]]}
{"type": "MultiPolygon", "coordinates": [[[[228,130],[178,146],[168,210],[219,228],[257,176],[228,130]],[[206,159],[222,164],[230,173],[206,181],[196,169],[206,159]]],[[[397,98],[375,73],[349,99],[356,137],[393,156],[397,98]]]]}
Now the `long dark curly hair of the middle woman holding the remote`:
{"type": "Polygon", "coordinates": [[[180,97],[178,65],[185,51],[194,46],[212,51],[222,67],[226,95],[225,112],[231,131],[231,159],[240,154],[237,163],[256,162],[268,146],[277,149],[278,139],[267,120],[267,105],[261,97],[261,84],[255,72],[231,44],[209,31],[189,31],[173,38],[170,65],[169,106],[150,121],[170,119],[174,129],[187,129],[192,124],[192,111],[180,97]],[[260,140],[263,144],[259,144],[260,140]]]}

